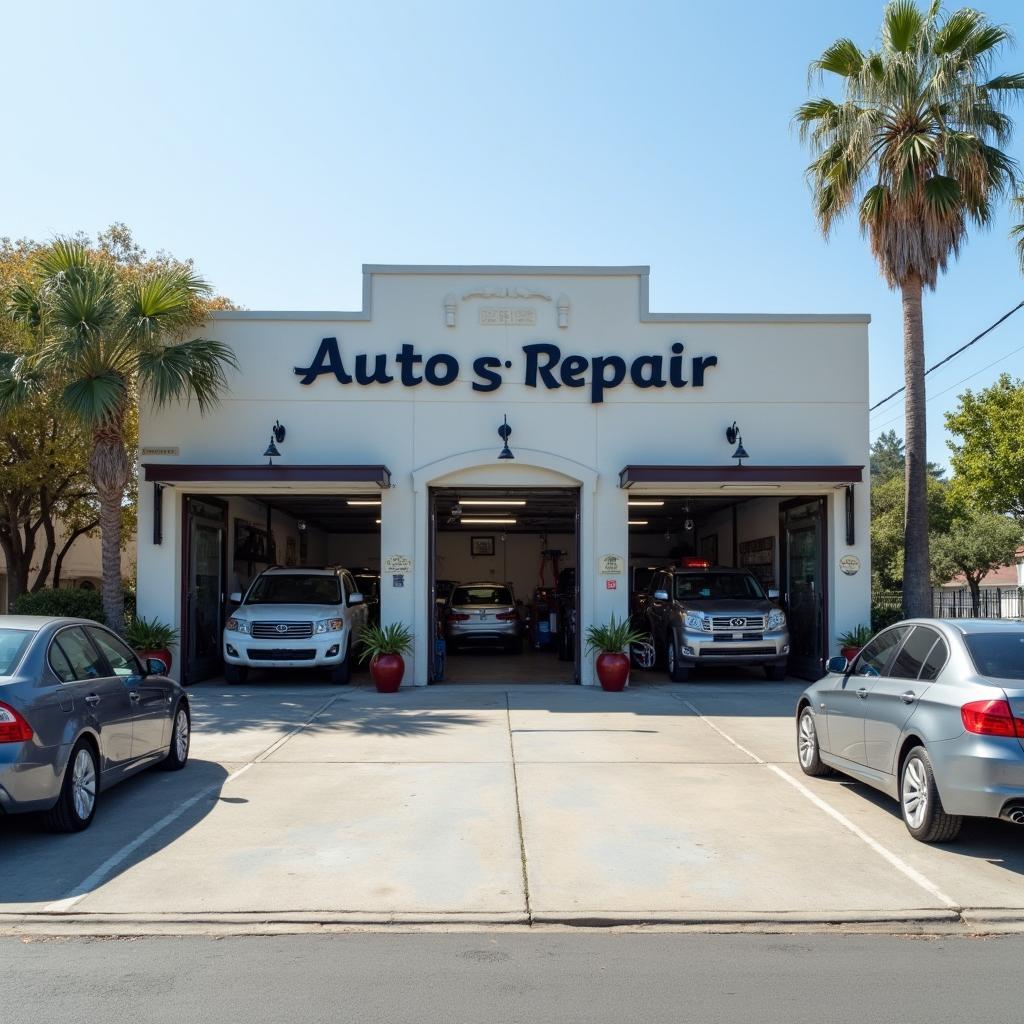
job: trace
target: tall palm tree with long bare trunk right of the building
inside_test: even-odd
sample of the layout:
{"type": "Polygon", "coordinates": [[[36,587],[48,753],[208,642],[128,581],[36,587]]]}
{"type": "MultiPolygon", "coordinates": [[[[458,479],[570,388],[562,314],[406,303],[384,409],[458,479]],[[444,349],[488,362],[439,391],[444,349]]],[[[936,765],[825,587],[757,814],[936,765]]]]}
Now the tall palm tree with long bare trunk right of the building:
{"type": "Polygon", "coordinates": [[[811,99],[796,115],[814,158],[807,173],[822,233],[856,207],[882,276],[902,297],[907,615],[931,611],[922,295],[968,227],[987,225],[1017,183],[1017,166],[999,147],[1013,128],[1002,108],[1024,89],[1024,75],[991,72],[1009,41],[976,10],[946,14],[938,0],[927,10],[893,0],[879,49],[840,39],[811,65],[812,78],[842,81],[842,98],[811,99]]]}

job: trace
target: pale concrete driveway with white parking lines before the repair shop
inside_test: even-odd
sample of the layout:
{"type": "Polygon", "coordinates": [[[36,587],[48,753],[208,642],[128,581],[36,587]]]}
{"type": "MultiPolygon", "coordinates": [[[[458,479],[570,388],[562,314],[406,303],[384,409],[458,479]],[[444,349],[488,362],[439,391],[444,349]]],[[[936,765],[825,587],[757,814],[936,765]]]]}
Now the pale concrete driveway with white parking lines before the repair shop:
{"type": "Polygon", "coordinates": [[[184,772],[0,820],[0,924],[1024,922],[1013,826],[801,774],[801,688],[196,687],[184,772]]]}

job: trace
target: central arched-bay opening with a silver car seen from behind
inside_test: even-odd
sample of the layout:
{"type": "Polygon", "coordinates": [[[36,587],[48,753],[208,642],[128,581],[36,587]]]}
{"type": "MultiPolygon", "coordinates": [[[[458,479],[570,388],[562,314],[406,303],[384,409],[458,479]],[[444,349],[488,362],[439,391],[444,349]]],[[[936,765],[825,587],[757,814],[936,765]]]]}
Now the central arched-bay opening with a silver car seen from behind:
{"type": "Polygon", "coordinates": [[[433,682],[580,679],[580,492],[430,492],[433,682]]]}

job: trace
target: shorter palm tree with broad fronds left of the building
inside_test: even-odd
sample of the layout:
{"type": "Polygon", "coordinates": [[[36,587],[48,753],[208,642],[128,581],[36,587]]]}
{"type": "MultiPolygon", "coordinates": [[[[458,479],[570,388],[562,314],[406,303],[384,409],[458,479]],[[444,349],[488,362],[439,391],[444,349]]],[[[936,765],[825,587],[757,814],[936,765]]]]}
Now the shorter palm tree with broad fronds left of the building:
{"type": "Polygon", "coordinates": [[[201,413],[227,387],[234,353],[219,341],[185,340],[207,315],[210,288],[180,263],[120,267],[78,240],[58,239],[35,260],[31,284],[7,313],[37,347],[0,365],[0,413],[59,389],[91,433],[89,475],[99,499],[103,614],[124,628],[121,524],[132,473],[126,426],[133,406],[195,401],[201,413]]]}

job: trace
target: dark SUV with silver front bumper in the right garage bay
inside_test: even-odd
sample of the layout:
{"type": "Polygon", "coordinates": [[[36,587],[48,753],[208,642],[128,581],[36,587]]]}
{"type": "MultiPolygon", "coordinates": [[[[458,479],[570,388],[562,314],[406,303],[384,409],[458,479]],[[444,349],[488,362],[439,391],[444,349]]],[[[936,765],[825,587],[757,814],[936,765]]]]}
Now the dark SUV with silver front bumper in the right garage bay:
{"type": "Polygon", "coordinates": [[[673,682],[698,665],[760,665],[769,679],[785,676],[785,613],[746,569],[659,569],[638,617],[673,682]]]}

